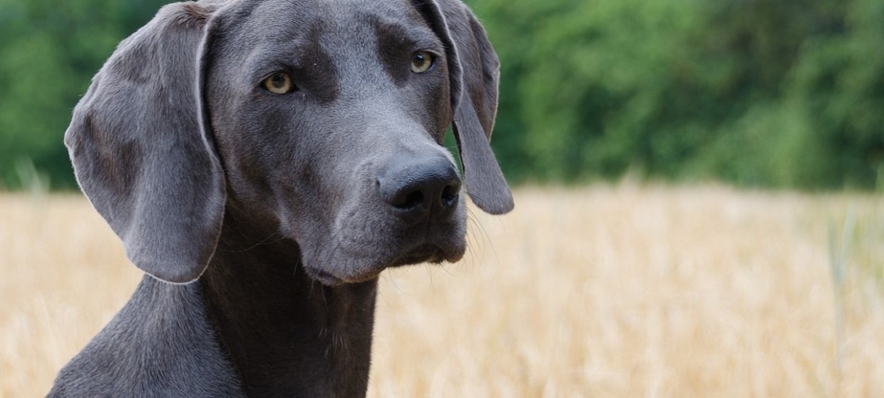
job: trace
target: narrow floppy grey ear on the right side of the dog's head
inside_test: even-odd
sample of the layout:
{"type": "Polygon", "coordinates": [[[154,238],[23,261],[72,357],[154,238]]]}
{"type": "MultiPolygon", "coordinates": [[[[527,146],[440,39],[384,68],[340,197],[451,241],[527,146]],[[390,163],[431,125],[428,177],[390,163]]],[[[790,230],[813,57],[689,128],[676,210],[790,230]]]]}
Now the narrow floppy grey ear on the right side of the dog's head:
{"type": "Polygon", "coordinates": [[[485,30],[460,0],[412,0],[446,46],[453,131],[467,194],[491,214],[513,210],[513,195],[489,141],[497,114],[500,63],[485,30]]]}

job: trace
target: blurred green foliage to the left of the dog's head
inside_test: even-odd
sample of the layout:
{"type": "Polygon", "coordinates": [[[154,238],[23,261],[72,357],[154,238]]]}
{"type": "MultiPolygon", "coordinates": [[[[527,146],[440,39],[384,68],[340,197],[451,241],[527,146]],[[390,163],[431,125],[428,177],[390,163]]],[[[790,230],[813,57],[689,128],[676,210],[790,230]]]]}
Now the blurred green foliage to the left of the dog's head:
{"type": "Polygon", "coordinates": [[[0,0],[0,188],[18,188],[15,165],[33,162],[57,188],[72,188],[62,142],[73,105],[156,0],[0,0]]]}

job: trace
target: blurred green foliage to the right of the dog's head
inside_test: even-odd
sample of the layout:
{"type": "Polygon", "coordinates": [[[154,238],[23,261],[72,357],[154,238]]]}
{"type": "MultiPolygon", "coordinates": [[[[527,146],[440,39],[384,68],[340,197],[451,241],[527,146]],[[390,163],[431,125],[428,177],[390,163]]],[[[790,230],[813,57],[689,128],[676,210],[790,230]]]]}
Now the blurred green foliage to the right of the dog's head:
{"type": "Polygon", "coordinates": [[[503,62],[511,179],[871,188],[880,2],[471,2],[503,62]]]}

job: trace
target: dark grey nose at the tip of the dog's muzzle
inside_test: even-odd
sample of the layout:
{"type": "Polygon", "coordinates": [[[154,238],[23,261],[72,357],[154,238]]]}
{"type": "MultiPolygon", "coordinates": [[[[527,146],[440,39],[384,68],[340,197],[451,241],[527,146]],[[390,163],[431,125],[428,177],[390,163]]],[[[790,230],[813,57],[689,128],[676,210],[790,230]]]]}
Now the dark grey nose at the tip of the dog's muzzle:
{"type": "Polygon", "coordinates": [[[446,157],[399,157],[377,178],[386,203],[413,221],[444,218],[457,207],[461,179],[446,157]]]}

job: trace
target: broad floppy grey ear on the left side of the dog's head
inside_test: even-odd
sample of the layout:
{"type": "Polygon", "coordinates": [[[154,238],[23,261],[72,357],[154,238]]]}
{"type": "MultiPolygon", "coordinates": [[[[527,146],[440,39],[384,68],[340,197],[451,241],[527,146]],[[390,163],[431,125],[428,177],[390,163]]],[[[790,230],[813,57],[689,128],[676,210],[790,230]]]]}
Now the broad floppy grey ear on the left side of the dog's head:
{"type": "Polygon", "coordinates": [[[168,282],[199,278],[224,216],[224,172],[199,88],[212,11],[167,5],[120,42],[65,133],[80,188],[126,256],[168,282]]]}

